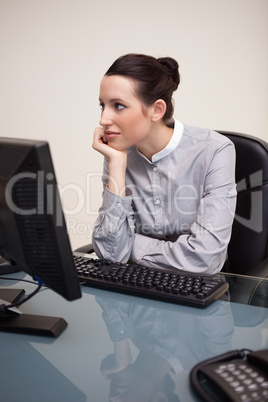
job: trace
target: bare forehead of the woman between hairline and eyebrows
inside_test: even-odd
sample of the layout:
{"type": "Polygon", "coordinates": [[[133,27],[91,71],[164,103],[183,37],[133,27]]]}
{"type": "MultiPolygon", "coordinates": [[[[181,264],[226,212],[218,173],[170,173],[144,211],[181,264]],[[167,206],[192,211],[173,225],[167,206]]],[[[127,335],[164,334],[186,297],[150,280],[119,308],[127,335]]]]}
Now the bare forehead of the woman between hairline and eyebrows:
{"type": "Polygon", "coordinates": [[[137,99],[133,80],[120,75],[105,75],[100,84],[100,99],[137,99]]]}

